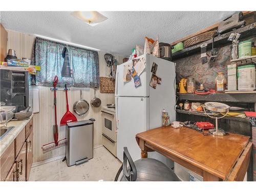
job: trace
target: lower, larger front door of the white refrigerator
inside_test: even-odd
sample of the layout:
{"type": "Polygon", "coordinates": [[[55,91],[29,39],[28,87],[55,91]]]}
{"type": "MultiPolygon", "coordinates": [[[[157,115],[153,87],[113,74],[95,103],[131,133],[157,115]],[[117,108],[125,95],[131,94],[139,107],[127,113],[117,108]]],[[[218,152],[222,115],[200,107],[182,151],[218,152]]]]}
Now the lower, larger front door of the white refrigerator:
{"type": "Polygon", "coordinates": [[[148,127],[148,98],[116,97],[117,158],[123,161],[126,146],[134,161],[140,159],[140,147],[135,136],[148,127]]]}

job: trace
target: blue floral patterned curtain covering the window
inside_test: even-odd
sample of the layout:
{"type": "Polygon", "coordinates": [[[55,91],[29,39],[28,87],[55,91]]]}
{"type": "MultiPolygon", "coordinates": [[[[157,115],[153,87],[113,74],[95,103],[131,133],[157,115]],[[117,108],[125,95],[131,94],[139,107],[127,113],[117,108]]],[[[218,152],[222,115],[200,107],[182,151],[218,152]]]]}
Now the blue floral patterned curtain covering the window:
{"type": "Polygon", "coordinates": [[[51,87],[54,76],[58,76],[58,87],[99,87],[98,52],[67,46],[60,42],[36,37],[32,53],[32,65],[40,66],[36,75],[36,85],[51,87]],[[73,68],[73,77],[62,77],[61,70],[64,58],[63,48],[67,47],[73,68]]]}

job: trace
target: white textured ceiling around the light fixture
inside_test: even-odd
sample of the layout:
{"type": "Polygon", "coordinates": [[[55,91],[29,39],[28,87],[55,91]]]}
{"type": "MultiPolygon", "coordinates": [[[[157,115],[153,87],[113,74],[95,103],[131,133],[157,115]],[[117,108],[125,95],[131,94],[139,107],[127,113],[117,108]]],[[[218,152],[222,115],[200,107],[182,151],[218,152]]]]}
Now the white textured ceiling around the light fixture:
{"type": "Polygon", "coordinates": [[[102,51],[129,56],[135,45],[144,45],[144,36],[173,42],[213,25],[234,12],[109,11],[109,19],[89,26],[67,11],[2,11],[6,29],[38,34],[73,42],[102,51]]]}

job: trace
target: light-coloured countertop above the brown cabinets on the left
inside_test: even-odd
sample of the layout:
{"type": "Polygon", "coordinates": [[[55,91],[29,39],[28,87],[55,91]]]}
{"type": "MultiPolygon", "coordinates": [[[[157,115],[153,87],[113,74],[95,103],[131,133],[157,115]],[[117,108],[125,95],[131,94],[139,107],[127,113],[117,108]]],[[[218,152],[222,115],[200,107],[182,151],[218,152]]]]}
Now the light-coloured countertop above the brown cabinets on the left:
{"type": "Polygon", "coordinates": [[[6,149],[10,146],[10,144],[14,141],[14,139],[18,136],[18,134],[23,130],[23,128],[28,124],[30,119],[32,119],[34,115],[32,114],[29,119],[17,121],[11,120],[7,123],[7,126],[15,126],[3,139],[0,140],[0,157],[4,154],[6,149]]]}

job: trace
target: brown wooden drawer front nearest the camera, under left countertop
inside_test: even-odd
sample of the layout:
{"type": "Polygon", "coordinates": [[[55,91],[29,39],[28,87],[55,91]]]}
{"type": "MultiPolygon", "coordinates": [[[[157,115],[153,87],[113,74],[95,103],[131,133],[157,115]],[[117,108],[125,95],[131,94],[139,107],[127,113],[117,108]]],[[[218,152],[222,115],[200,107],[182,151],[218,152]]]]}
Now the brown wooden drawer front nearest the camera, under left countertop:
{"type": "Polygon", "coordinates": [[[4,181],[15,160],[14,141],[0,157],[0,180],[4,181]]]}

